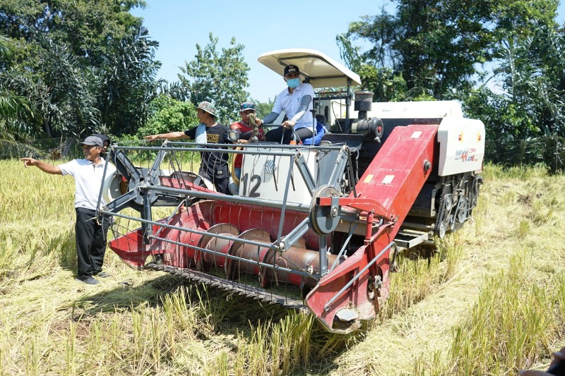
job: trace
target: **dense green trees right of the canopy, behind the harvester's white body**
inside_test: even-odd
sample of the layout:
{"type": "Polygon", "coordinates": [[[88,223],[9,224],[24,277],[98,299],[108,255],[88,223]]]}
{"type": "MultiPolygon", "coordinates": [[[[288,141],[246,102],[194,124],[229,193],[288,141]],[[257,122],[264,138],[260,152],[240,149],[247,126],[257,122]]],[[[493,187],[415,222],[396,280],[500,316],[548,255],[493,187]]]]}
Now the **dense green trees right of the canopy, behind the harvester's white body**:
{"type": "Polygon", "coordinates": [[[338,35],[379,101],[458,99],[489,139],[565,135],[557,0],[396,1],[338,35]],[[370,48],[356,45],[363,41],[370,48]]]}

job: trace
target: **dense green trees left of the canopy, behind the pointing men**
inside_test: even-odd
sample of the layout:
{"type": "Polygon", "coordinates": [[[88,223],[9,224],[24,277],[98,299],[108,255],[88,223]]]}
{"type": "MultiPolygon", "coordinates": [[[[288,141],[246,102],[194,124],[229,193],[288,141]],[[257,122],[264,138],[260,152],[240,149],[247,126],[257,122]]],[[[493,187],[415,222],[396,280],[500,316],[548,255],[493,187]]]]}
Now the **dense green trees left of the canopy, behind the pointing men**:
{"type": "Polygon", "coordinates": [[[241,44],[196,44],[179,81],[157,80],[158,42],[129,13],[142,0],[0,0],[0,139],[131,137],[186,129],[194,104],[237,119],[249,99],[241,44]]]}

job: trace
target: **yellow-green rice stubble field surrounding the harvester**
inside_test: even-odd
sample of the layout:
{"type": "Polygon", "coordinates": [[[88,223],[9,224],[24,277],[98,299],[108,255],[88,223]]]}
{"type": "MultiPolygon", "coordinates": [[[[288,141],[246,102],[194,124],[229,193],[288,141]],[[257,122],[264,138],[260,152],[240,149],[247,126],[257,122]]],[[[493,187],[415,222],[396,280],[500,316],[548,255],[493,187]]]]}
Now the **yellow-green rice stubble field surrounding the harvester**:
{"type": "Polygon", "coordinates": [[[0,162],[0,375],[511,375],[565,344],[564,176],[487,165],[479,206],[404,253],[362,332],[264,306],[109,251],[74,281],[73,181],[0,162]]]}

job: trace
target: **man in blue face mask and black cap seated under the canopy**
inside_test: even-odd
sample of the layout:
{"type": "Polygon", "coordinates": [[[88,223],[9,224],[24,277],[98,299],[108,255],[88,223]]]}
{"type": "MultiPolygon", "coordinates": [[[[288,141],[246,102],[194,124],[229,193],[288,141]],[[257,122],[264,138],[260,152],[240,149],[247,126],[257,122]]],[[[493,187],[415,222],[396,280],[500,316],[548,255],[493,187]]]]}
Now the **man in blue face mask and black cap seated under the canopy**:
{"type": "Polygon", "coordinates": [[[283,144],[290,144],[294,133],[300,140],[312,137],[313,118],[310,110],[313,109],[314,87],[309,83],[300,82],[300,71],[292,64],[285,67],[284,80],[287,87],[277,95],[273,111],[264,119],[257,119],[256,123],[258,126],[273,123],[280,113],[285,111],[288,120],[284,121],[279,128],[268,131],[265,138],[269,142],[283,140],[283,144]]]}

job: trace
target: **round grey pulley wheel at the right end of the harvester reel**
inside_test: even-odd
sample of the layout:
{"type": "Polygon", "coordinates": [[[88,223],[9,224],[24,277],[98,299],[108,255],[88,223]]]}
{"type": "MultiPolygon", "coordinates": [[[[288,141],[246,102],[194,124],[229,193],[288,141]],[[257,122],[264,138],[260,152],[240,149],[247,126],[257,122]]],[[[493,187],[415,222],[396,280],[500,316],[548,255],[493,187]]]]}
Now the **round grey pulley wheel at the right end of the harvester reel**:
{"type": "MultiPolygon", "coordinates": [[[[312,229],[317,234],[330,234],[338,226],[340,222],[340,207],[337,204],[331,206],[319,205],[318,198],[336,198],[340,197],[340,193],[333,186],[320,186],[312,194],[312,202],[310,205],[310,222],[312,229]]],[[[337,201],[337,200],[336,200],[337,201]]]]}

